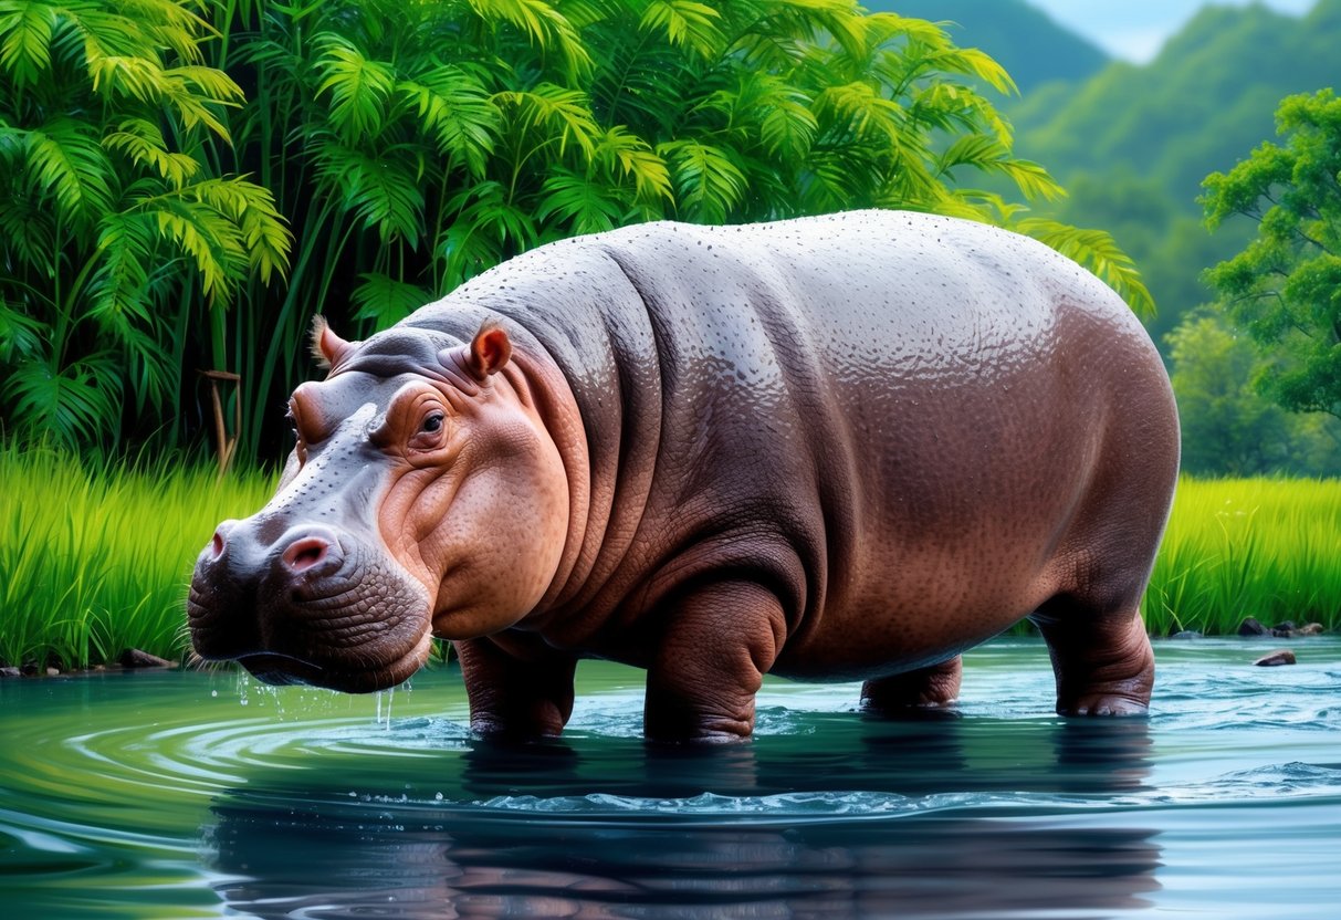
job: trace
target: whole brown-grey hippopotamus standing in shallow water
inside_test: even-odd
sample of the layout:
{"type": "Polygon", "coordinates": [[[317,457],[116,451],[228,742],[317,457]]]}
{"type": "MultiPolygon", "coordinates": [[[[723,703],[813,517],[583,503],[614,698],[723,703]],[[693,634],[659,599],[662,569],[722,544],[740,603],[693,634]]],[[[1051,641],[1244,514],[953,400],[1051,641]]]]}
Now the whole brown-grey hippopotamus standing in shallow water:
{"type": "Polygon", "coordinates": [[[579,658],[649,739],[751,735],[764,675],[897,715],[1023,618],[1063,715],[1144,712],[1139,602],[1179,465],[1125,303],[990,225],[892,211],[542,245],[361,342],[325,322],[278,492],[225,520],[194,649],[270,683],[408,679],[555,735],[579,658]]]}

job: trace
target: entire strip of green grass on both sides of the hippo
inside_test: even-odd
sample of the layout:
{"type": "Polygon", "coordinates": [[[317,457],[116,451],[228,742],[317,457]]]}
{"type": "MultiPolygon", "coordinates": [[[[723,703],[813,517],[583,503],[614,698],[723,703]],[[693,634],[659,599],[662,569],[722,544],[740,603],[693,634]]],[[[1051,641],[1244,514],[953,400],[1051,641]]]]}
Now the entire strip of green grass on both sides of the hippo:
{"type": "MultiPolygon", "coordinates": [[[[219,479],[160,461],[84,469],[0,447],[0,658],[89,667],[139,648],[186,649],[184,598],[215,524],[245,516],[268,473],[219,479]]],[[[1152,634],[1341,625],[1341,480],[1179,484],[1144,613],[1152,634]]]]}

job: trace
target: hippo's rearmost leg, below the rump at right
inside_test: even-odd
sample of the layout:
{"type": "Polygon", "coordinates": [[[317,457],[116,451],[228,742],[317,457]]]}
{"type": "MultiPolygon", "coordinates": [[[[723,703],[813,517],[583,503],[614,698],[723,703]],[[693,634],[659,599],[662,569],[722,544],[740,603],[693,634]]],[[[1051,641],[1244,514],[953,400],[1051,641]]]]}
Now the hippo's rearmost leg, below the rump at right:
{"type": "Polygon", "coordinates": [[[1155,685],[1155,653],[1136,603],[1096,616],[1074,598],[1054,598],[1033,617],[1047,640],[1063,716],[1140,715],[1155,685]]]}

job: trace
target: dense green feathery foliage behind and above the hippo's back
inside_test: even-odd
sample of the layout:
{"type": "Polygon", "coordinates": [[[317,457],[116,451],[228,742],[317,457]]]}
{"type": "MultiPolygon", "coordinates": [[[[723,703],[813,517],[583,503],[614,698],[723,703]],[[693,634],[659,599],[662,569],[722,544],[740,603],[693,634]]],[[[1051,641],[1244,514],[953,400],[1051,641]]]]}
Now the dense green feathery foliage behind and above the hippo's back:
{"type": "Polygon", "coordinates": [[[657,217],[966,215],[1144,308],[1105,235],[972,189],[1059,194],[978,87],[1012,84],[853,0],[0,0],[7,433],[181,443],[212,369],[255,457],[312,314],[363,334],[657,217]]]}

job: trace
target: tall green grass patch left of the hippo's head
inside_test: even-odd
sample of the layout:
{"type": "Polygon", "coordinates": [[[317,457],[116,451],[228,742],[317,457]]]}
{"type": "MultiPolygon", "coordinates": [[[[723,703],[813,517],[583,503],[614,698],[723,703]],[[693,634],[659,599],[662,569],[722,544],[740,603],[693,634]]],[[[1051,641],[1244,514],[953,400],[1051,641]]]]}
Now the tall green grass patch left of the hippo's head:
{"type": "Polygon", "coordinates": [[[177,657],[196,554],[272,485],[266,473],[220,479],[161,460],[89,469],[63,452],[0,447],[0,658],[177,657]]]}

